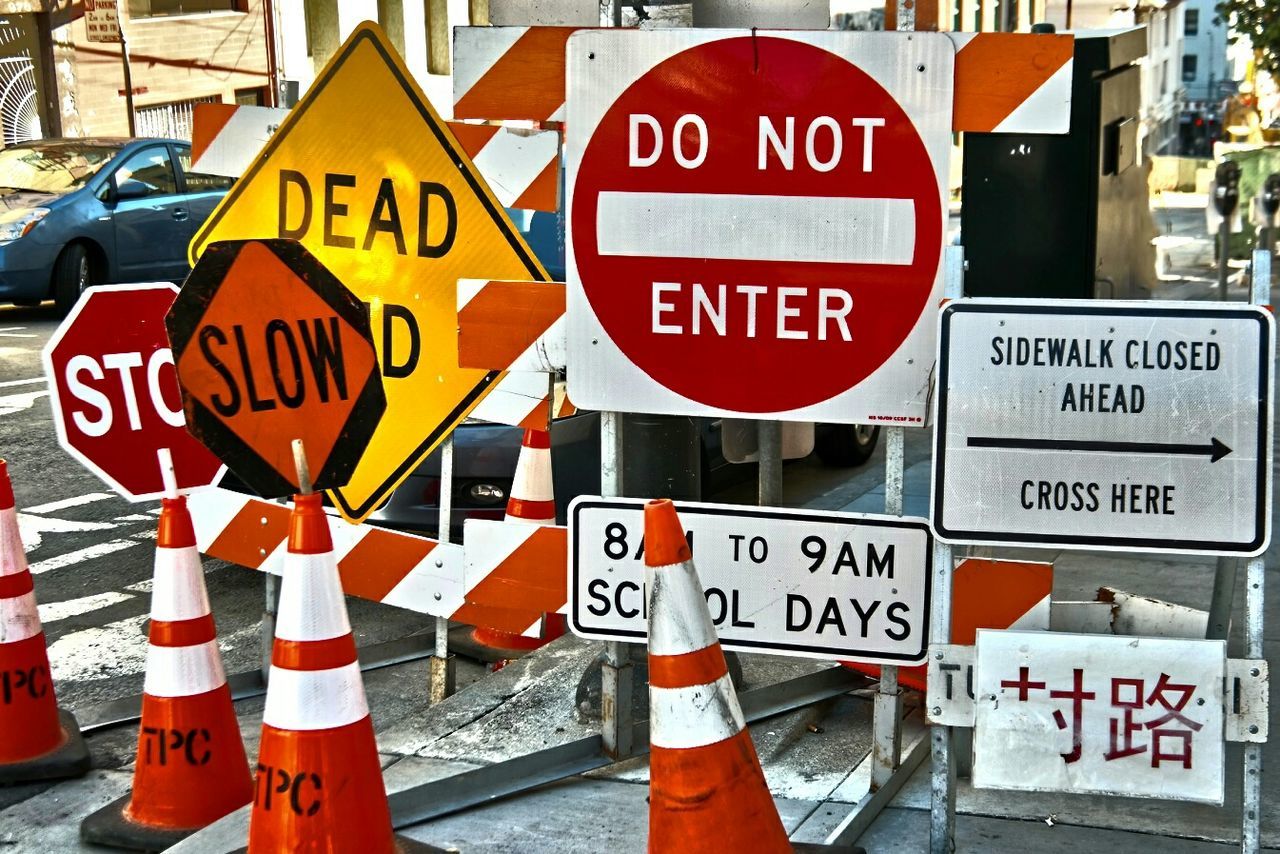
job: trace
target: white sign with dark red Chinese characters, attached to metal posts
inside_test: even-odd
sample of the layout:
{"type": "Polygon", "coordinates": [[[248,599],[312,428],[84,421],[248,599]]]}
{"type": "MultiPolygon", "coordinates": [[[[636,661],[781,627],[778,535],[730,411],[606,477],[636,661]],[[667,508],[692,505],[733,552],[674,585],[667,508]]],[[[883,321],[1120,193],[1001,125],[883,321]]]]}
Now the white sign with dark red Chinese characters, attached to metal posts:
{"type": "Polygon", "coordinates": [[[975,786],[1222,803],[1220,640],[979,631],[975,786]]]}

